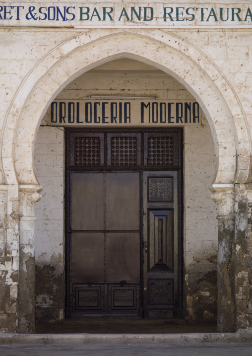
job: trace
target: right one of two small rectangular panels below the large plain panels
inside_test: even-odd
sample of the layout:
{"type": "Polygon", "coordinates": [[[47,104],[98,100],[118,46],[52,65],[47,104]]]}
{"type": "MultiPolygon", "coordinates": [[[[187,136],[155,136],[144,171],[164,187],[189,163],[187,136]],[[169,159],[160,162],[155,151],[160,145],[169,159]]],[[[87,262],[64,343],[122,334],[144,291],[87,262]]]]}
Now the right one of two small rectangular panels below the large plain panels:
{"type": "Polygon", "coordinates": [[[138,285],[110,285],[111,310],[136,309],[138,300],[138,285]]]}

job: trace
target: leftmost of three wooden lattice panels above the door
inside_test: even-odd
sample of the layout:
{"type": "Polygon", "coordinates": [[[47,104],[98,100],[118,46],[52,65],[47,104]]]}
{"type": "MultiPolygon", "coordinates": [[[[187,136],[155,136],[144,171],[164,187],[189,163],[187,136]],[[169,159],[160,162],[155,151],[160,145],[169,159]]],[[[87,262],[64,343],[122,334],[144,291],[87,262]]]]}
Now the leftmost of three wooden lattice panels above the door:
{"type": "Polygon", "coordinates": [[[100,165],[100,138],[99,137],[75,137],[74,165],[75,166],[100,165]]]}

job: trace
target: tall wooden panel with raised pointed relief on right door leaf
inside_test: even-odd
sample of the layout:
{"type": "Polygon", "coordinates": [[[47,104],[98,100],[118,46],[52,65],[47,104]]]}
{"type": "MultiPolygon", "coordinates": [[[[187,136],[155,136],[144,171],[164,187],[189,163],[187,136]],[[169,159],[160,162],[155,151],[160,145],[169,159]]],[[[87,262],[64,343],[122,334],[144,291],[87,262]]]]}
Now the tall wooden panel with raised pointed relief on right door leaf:
{"type": "Polygon", "coordinates": [[[173,270],[173,210],[148,211],[149,271],[173,270]]]}

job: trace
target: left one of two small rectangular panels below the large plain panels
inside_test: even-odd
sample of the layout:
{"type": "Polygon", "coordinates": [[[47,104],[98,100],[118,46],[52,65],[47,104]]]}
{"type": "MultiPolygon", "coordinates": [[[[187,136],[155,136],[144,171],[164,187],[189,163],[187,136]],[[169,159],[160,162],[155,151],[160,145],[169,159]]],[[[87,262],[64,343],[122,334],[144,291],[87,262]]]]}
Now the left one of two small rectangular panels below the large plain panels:
{"type": "Polygon", "coordinates": [[[75,287],[75,304],[77,310],[101,310],[103,286],[75,287]]]}

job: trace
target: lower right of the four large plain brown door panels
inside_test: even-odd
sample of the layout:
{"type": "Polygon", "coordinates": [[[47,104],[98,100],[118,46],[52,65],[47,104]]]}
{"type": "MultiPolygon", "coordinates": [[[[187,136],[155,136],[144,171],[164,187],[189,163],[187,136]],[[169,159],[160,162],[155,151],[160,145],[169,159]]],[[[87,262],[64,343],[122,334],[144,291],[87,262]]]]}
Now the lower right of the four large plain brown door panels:
{"type": "Polygon", "coordinates": [[[108,233],[106,241],[107,281],[139,282],[139,233],[108,233]]]}

